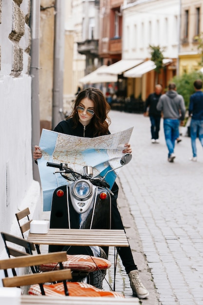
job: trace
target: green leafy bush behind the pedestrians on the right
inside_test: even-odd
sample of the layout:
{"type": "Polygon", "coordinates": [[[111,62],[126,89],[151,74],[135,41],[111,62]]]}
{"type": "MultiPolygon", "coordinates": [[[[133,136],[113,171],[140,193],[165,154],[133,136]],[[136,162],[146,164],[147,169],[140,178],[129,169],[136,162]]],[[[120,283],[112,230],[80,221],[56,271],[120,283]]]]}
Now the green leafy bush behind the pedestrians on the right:
{"type": "Polygon", "coordinates": [[[196,79],[203,80],[203,73],[194,71],[189,74],[185,73],[182,76],[174,76],[172,78],[172,82],[176,84],[177,92],[184,97],[186,109],[189,107],[190,95],[195,92],[193,83],[196,79]]]}

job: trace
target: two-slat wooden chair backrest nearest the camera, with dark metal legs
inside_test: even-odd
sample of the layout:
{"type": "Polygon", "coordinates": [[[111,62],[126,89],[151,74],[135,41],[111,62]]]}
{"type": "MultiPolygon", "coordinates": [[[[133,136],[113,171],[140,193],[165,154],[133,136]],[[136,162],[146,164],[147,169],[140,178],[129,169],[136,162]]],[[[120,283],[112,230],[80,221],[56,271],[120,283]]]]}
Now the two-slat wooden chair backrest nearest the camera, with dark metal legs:
{"type": "MultiPolygon", "coordinates": [[[[62,268],[62,262],[66,261],[66,259],[67,257],[65,251],[48,254],[27,255],[24,257],[0,260],[0,269],[3,269],[5,272],[5,270],[7,271],[7,269],[10,268],[32,267],[52,262],[59,262],[62,268]]],[[[8,272],[6,273],[8,274],[8,272]]],[[[2,279],[2,284],[4,287],[19,287],[39,284],[42,294],[45,294],[42,283],[63,281],[65,294],[68,295],[66,280],[72,279],[71,269],[55,270],[35,274],[29,273],[14,277],[8,277],[6,273],[6,277],[2,279]]]]}

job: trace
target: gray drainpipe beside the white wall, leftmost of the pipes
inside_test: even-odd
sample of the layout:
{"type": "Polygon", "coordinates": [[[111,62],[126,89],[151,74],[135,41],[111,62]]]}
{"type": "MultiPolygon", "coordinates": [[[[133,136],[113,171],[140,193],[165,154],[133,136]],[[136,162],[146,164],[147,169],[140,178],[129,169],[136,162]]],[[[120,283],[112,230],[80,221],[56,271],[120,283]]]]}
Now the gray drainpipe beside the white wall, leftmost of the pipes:
{"type": "MultiPolygon", "coordinates": [[[[40,0],[31,0],[31,69],[32,77],[31,88],[31,109],[32,109],[32,153],[35,145],[40,139],[40,118],[39,118],[39,18],[40,0]]],[[[38,167],[33,160],[33,178],[40,182],[38,167]]]]}

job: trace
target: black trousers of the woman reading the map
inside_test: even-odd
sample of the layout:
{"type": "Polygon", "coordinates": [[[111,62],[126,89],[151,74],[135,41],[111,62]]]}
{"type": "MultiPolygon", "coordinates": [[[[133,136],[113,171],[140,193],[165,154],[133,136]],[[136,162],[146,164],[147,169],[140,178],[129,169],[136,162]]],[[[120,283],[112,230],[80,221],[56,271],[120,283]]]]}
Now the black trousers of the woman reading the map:
{"type": "MultiPolygon", "coordinates": [[[[116,199],[118,197],[118,186],[116,183],[114,183],[111,191],[113,192],[113,196],[111,196],[111,204],[112,204],[111,229],[124,229],[121,215],[117,208],[116,199]]],[[[131,270],[137,269],[137,266],[134,263],[134,259],[130,247],[116,247],[116,248],[122,260],[123,266],[125,267],[126,273],[129,274],[131,270]]],[[[104,250],[108,254],[108,247],[105,247],[104,250]]]]}

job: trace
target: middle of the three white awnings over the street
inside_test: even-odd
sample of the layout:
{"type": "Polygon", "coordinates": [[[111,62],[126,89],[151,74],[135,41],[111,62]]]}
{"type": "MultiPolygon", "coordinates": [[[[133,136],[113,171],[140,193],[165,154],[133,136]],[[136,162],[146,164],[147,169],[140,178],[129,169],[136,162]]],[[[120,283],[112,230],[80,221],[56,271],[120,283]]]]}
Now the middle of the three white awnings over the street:
{"type": "MultiPolygon", "coordinates": [[[[113,63],[110,66],[107,66],[104,69],[104,73],[111,74],[111,75],[119,75],[123,72],[139,65],[141,62],[143,62],[142,59],[121,59],[115,63],[113,63]]],[[[103,73],[99,72],[99,74],[103,73]]]]}

